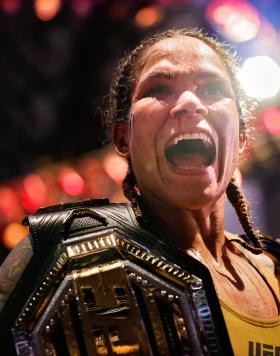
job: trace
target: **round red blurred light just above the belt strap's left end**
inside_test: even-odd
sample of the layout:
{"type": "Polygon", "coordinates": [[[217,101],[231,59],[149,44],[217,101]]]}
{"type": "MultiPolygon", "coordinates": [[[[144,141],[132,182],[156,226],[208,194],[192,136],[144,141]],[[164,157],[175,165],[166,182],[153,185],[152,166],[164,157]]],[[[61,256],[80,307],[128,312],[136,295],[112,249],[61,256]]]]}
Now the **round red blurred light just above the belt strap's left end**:
{"type": "Polygon", "coordinates": [[[22,204],[31,213],[47,203],[47,189],[43,179],[30,174],[23,180],[22,204]]]}

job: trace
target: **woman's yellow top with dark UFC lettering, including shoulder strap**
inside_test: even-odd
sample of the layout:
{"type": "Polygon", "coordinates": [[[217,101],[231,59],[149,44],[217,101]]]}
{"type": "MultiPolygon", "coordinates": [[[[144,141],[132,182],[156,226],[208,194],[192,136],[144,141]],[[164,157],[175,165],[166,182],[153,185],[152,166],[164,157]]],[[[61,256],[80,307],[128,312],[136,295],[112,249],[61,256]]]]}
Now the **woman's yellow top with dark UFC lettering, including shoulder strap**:
{"type": "MultiPolygon", "coordinates": [[[[242,252],[263,276],[279,305],[279,282],[266,268],[242,252]]],[[[280,356],[280,316],[263,320],[242,314],[220,300],[235,356],[280,356]]]]}

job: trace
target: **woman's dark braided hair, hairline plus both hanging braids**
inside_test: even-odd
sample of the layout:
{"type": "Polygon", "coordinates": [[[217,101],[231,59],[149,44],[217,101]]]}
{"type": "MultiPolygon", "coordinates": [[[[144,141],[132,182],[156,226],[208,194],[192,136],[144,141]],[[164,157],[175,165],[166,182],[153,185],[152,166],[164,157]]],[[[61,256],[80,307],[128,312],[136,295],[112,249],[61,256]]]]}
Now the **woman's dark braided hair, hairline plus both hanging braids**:
{"type": "MultiPolygon", "coordinates": [[[[119,63],[117,76],[111,85],[109,102],[107,103],[107,108],[109,109],[105,111],[106,124],[112,127],[114,123],[128,121],[131,97],[139,74],[144,67],[148,50],[162,40],[180,36],[194,37],[201,40],[211,47],[223,60],[229,72],[236,96],[237,109],[240,117],[240,132],[247,136],[249,131],[248,121],[252,117],[251,112],[254,109],[255,103],[246,96],[237,79],[236,74],[239,64],[236,53],[233,53],[228,46],[219,42],[216,38],[204,34],[201,30],[190,28],[171,29],[155,34],[142,41],[134,50],[123,57],[119,63]]],[[[122,185],[123,192],[126,198],[131,202],[136,218],[139,222],[145,223],[147,220],[143,214],[144,208],[137,188],[137,181],[132,170],[131,162],[129,161],[128,163],[128,172],[122,185]]],[[[234,178],[228,185],[227,197],[233,205],[245,232],[243,241],[231,239],[228,242],[237,242],[254,254],[261,253],[262,245],[258,233],[253,228],[248,203],[234,178]]]]}

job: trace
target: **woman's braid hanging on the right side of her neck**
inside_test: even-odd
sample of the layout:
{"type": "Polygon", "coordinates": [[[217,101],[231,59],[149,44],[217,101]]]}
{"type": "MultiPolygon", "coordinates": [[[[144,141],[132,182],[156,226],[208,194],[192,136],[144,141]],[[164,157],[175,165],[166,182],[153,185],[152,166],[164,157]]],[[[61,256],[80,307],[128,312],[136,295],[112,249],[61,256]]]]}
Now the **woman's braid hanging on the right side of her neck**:
{"type": "Polygon", "coordinates": [[[239,221],[245,232],[247,242],[240,241],[238,239],[231,239],[229,242],[237,242],[245,249],[251,251],[254,254],[260,254],[263,251],[263,247],[260,241],[257,231],[253,228],[252,218],[249,212],[248,202],[246,201],[244,194],[236,179],[232,178],[227,187],[227,197],[232,206],[234,207],[239,221]]]}

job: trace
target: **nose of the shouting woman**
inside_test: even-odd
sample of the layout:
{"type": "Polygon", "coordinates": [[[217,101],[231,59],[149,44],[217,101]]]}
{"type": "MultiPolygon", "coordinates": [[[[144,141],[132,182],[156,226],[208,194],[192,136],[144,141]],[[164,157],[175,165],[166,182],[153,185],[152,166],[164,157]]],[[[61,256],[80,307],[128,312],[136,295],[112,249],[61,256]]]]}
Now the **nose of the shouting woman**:
{"type": "Polygon", "coordinates": [[[199,117],[208,115],[208,109],[199,97],[191,91],[184,91],[178,98],[175,106],[170,110],[171,118],[179,117],[199,117]]]}

